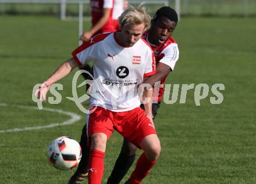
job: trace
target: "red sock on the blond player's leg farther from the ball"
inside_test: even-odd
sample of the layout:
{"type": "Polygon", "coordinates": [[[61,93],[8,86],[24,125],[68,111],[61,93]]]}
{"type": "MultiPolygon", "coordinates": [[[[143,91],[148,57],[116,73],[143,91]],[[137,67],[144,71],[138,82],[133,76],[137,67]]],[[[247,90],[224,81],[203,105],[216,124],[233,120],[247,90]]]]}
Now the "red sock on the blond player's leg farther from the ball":
{"type": "Polygon", "coordinates": [[[145,176],[148,175],[150,169],[154,166],[157,160],[151,161],[145,156],[145,153],[141,154],[138,158],[136,168],[130,176],[129,184],[138,184],[140,183],[145,176]]]}

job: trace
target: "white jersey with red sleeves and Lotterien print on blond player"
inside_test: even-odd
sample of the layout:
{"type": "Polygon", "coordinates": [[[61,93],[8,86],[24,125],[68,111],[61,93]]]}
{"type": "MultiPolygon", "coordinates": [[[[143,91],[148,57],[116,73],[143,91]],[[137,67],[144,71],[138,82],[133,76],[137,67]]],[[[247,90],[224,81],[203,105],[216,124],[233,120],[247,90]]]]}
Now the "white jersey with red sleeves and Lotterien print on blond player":
{"type": "Polygon", "coordinates": [[[79,64],[94,62],[91,106],[128,111],[140,106],[138,85],[155,73],[155,58],[144,39],[125,48],[116,33],[99,34],[72,53],[79,64]]]}

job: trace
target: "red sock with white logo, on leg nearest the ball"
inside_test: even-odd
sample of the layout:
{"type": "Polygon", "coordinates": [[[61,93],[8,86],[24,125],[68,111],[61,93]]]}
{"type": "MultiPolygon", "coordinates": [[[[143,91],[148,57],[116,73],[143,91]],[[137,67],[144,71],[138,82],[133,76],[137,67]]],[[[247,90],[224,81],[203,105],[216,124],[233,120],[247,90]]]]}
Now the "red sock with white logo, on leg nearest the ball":
{"type": "Polygon", "coordinates": [[[90,160],[88,169],[88,183],[101,184],[104,171],[105,153],[99,150],[90,150],[90,160]]]}

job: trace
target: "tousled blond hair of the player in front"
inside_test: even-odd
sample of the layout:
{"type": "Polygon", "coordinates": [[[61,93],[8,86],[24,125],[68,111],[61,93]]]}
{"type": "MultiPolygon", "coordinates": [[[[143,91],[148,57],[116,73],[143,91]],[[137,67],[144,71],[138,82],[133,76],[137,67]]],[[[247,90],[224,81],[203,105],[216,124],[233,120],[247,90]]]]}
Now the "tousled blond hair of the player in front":
{"type": "Polygon", "coordinates": [[[146,30],[150,27],[150,16],[142,5],[138,6],[138,8],[129,6],[129,8],[118,17],[118,23],[121,28],[128,24],[144,24],[144,30],[146,30]]]}

